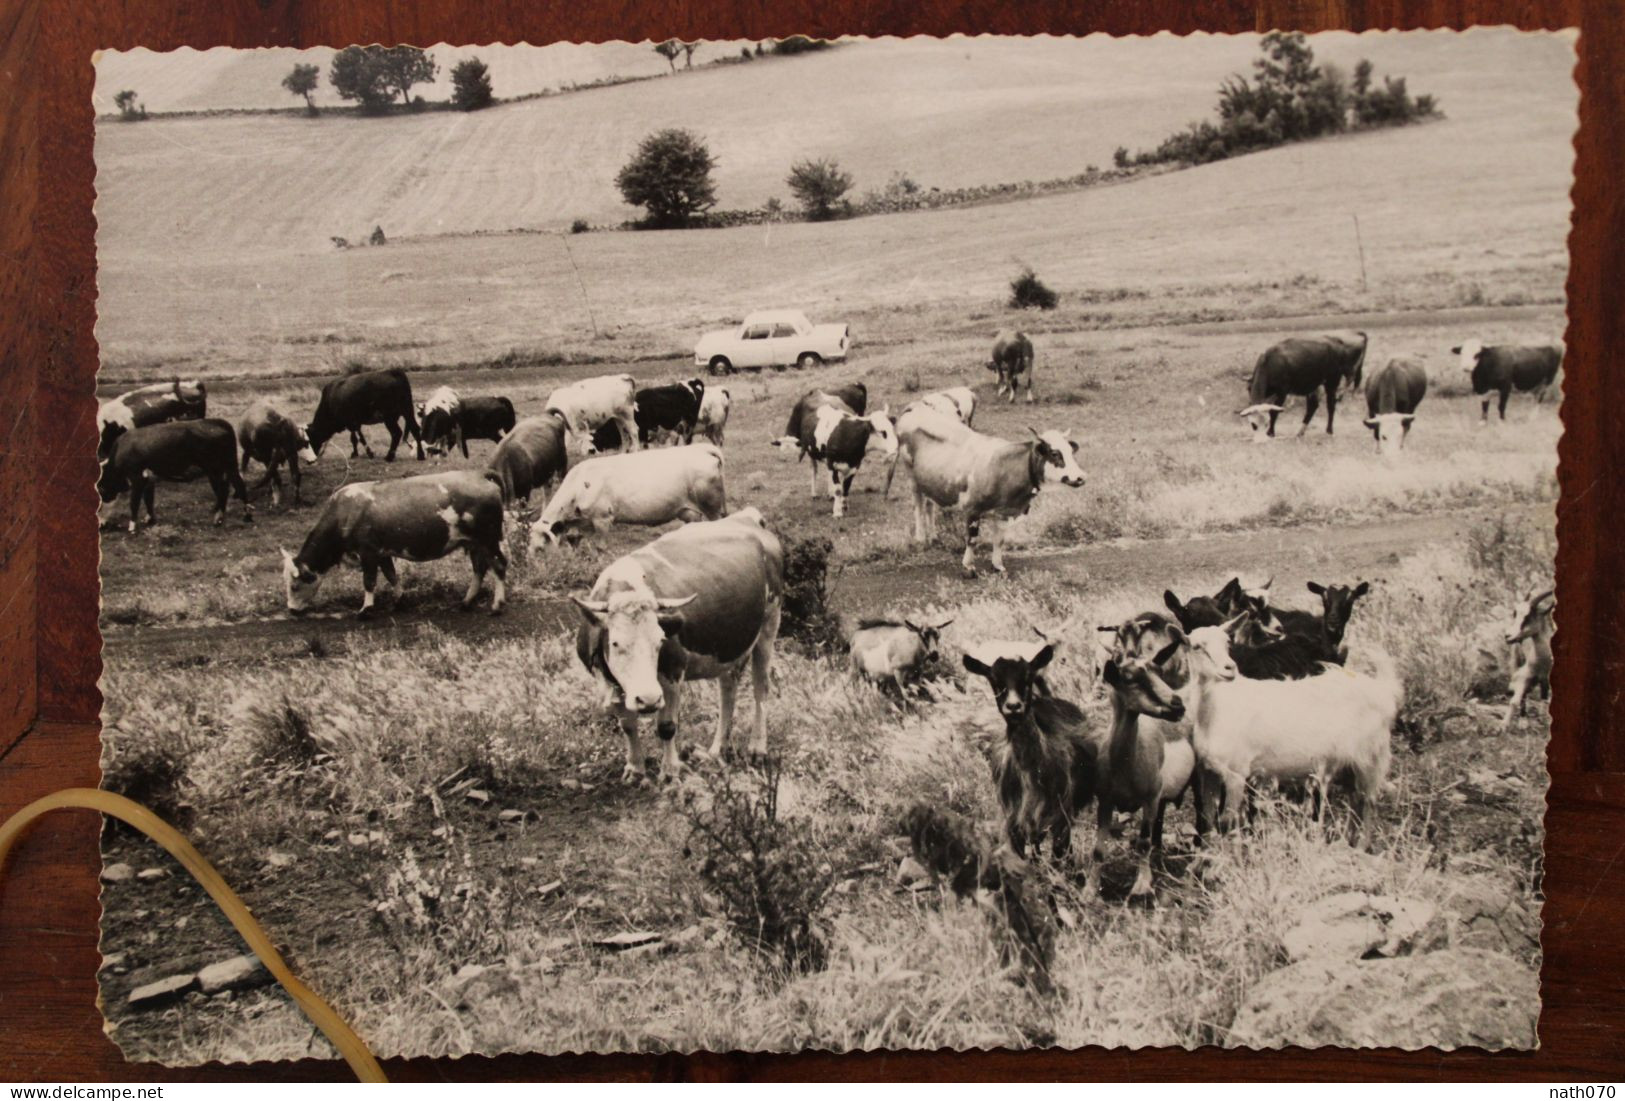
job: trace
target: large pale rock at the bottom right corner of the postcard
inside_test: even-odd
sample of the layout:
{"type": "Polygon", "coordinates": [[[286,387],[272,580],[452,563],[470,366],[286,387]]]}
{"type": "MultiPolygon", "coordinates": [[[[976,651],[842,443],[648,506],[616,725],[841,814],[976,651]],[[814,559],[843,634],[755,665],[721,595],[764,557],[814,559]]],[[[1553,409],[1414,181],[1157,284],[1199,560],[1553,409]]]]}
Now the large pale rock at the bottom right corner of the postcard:
{"type": "Polygon", "coordinates": [[[1264,976],[1230,1025],[1245,1047],[1534,1047],[1539,976],[1493,952],[1316,956],[1264,976]]]}

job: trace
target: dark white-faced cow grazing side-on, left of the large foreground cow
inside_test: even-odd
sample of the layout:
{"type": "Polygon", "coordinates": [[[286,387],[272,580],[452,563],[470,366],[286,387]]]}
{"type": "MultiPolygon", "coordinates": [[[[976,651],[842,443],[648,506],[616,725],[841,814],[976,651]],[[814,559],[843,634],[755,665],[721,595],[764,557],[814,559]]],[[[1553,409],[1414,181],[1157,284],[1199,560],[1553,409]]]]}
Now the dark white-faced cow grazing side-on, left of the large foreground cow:
{"type": "Polygon", "coordinates": [[[351,482],[333,492],[306,536],[299,554],[283,550],[288,611],[310,609],[322,575],[343,560],[361,563],[361,611],[372,611],[379,573],[398,585],[395,559],[432,562],[457,549],[468,552],[474,580],[463,607],[479,598],[494,573],[491,614],[507,601],[507,554],[502,549],[502,492],[491,474],[444,471],[390,482],[351,482]]]}

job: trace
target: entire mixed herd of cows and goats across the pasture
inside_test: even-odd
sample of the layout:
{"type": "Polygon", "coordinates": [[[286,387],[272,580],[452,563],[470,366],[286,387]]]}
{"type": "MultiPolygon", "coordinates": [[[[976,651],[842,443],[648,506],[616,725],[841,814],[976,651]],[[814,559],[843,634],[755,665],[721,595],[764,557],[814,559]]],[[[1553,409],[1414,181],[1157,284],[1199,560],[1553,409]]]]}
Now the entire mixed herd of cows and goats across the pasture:
{"type": "MultiPolygon", "coordinates": [[[[1030,401],[1030,341],[1001,333],[999,348],[1006,351],[996,351],[990,364],[998,370],[999,395],[1008,391],[1014,401],[1025,375],[1030,401]],[[1017,354],[1008,351],[1012,343],[1017,354]]],[[[1511,388],[1544,396],[1562,356],[1557,348],[1485,348],[1477,341],[1458,351],[1474,390],[1500,393],[1502,416],[1511,388]]],[[[1337,391],[1342,383],[1360,385],[1363,359],[1363,333],[1297,338],[1266,351],[1250,382],[1251,404],[1242,411],[1254,437],[1274,434],[1289,395],[1308,398],[1306,427],[1318,390],[1326,395],[1329,432],[1337,391]]],[[[1425,391],[1425,372],[1414,367],[1398,359],[1367,386],[1365,425],[1384,451],[1402,443],[1425,391]]],[[[1003,570],[1003,521],[1024,515],[1045,484],[1084,482],[1077,445],[1061,430],[1034,430],[1025,442],[975,430],[977,396],[968,386],[926,395],[895,419],[889,408],[871,412],[868,406],[863,383],[816,388],[795,404],[774,445],[811,461],[816,495],[824,492],[819,463],[827,468],[835,516],[845,513],[866,455],[879,451],[887,463],[887,494],[905,461],[915,489],[915,538],[930,539],[941,510],[957,512],[965,523],[968,572],[985,526],[991,528],[993,568],[1003,570]]],[[[388,460],[403,438],[401,425],[419,460],[426,445],[436,451],[460,447],[466,455],[470,437],[497,440],[484,471],[351,482],[333,492],[301,549],[283,550],[292,612],[314,604],[322,575],[340,562],[359,562],[361,612],[367,614],[377,576],[396,581],[395,559],[422,562],[455,549],[468,554],[474,572],[463,606],[471,606],[486,576],[494,575],[492,612],[499,612],[509,510],[554,482],[557,489],[530,529],[533,552],[609,525],[686,521],[611,562],[590,593],[572,598],[582,615],[578,656],[626,734],[627,781],[647,776],[639,747],[642,718],[656,718],[661,771],[678,770],[678,716],[689,680],[718,680],[712,753],[726,755],[746,667],[756,697],[751,750],[767,750],[764,710],[785,562],[759,510],[726,510],[725,388],[689,380],[639,390],[629,375],[603,375],[561,386],[540,416],[517,419],[505,398],[460,398],[444,386],[418,406],[405,372],[377,370],[328,383],[302,427],[266,401],[255,403],[236,429],[205,412],[205,386],[197,382],[146,386],[102,404],[99,490],[104,502],[130,494],[132,533],[143,503],[153,521],[154,479],[195,469],[213,487],[216,523],[223,521],[228,490],[252,520],[242,481],[250,461],[266,466],[273,499],[280,499],[278,471],[286,468],[297,500],[301,463],[315,461],[340,432],[349,434],[353,455],[361,448],[370,453],[362,435],[367,424],[387,427],[388,460]],[[707,440],[696,443],[696,434],[707,440]],[[661,435],[676,437],[678,447],[647,450],[661,435]],[[585,453],[622,450],[572,464],[572,445],[585,453]]],[[[1198,835],[1204,835],[1209,825],[1235,822],[1246,807],[1248,784],[1259,778],[1308,784],[1316,810],[1329,783],[1352,778],[1354,814],[1368,838],[1367,807],[1386,784],[1389,729],[1402,687],[1383,653],[1367,654],[1363,671],[1346,664],[1344,630],[1367,585],[1310,583],[1310,589],[1321,599],[1320,612],[1272,607],[1268,586],[1248,589],[1232,580],[1219,593],[1190,601],[1165,593],[1165,609],[1102,627],[1112,635],[1102,667],[1112,695],[1108,729],[1092,728],[1076,703],[1050,690],[1043,671],[1055,654],[1051,640],[968,646],[964,666],[988,680],[1006,726],[994,779],[1011,848],[1037,854],[1048,840],[1053,856],[1066,854],[1072,822],[1094,804],[1100,827],[1094,879],[1113,815],[1139,814],[1146,844],[1133,895],[1146,895],[1167,805],[1191,791],[1198,835]]],[[[1552,602],[1550,589],[1531,594],[1508,632],[1516,672],[1506,723],[1521,713],[1531,690],[1550,692],[1552,602]]],[[[860,624],[850,648],[855,674],[908,687],[944,625],[860,624]]]]}

